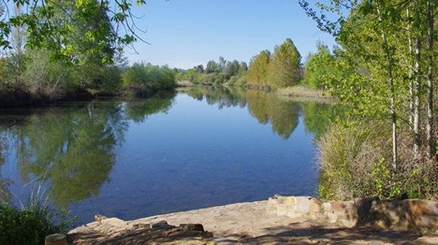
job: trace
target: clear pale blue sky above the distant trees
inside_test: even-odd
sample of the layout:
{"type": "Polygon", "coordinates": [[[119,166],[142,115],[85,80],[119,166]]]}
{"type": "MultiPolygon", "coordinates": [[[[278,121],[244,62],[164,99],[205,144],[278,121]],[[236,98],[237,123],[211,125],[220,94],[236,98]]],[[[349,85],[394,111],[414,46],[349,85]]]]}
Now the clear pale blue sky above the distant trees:
{"type": "Polygon", "coordinates": [[[151,45],[138,42],[126,49],[129,61],[191,68],[217,60],[249,61],[263,49],[273,50],[290,37],[303,59],[316,41],[335,44],[316,28],[297,0],[149,0],[135,6],[137,25],[151,45]]]}

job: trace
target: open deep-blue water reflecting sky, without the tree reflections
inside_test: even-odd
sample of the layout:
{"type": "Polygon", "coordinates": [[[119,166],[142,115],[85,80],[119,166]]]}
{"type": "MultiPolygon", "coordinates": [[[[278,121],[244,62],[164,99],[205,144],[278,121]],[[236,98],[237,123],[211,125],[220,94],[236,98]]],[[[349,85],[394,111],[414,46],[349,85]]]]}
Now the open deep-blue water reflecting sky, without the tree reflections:
{"type": "MultiPolygon", "coordinates": [[[[105,103],[112,102],[93,106],[105,103]]],[[[134,219],[256,201],[275,193],[314,195],[318,170],[313,136],[304,129],[302,113],[297,115],[299,124],[284,139],[273,133],[271,124],[260,124],[247,107],[218,109],[218,104],[179,94],[167,113],[138,122],[127,119],[124,141],[112,147],[115,161],[109,176],[102,177],[96,193],[68,208],[81,224],[95,213],[134,219]]],[[[10,191],[24,196],[23,177],[35,177],[22,173],[14,147],[6,150],[0,174],[13,179],[10,191]]],[[[74,174],[74,167],[68,169],[74,174]]]]}

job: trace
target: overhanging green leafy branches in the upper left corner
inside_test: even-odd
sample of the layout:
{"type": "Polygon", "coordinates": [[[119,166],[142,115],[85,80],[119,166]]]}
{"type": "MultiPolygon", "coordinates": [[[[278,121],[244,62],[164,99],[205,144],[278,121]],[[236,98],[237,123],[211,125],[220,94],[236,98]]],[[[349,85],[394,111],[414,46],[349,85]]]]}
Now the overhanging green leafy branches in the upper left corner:
{"type": "MultiPolygon", "coordinates": [[[[51,0],[7,0],[5,4],[8,3],[17,7],[23,6],[28,12],[0,20],[0,47],[11,47],[10,37],[13,28],[28,26],[26,40],[28,47],[45,48],[53,51],[58,57],[75,61],[71,56],[81,51],[81,45],[71,42],[68,38],[75,32],[74,23],[93,20],[99,15],[107,16],[111,25],[97,24],[95,28],[85,32],[82,37],[84,40],[97,42],[90,47],[89,52],[105,54],[108,47],[121,48],[133,44],[136,40],[142,40],[136,33],[138,29],[131,13],[132,4],[129,0],[119,0],[114,3],[106,0],[83,0],[75,1],[69,7],[64,5],[66,3],[64,1],[51,0]],[[65,13],[66,19],[57,18],[61,12],[65,13]]],[[[136,0],[136,4],[146,4],[146,1],[136,0]]],[[[104,56],[101,61],[110,63],[112,60],[104,56]]]]}

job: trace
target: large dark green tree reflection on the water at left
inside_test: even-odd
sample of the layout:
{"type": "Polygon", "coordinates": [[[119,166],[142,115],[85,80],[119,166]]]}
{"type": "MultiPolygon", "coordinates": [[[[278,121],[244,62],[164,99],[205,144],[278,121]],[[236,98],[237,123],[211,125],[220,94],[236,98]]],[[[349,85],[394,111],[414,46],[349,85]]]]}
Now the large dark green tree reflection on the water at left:
{"type": "Polygon", "coordinates": [[[122,107],[112,103],[33,114],[22,129],[24,137],[18,138],[21,171],[49,180],[50,197],[59,205],[97,196],[126,126],[122,107]]]}

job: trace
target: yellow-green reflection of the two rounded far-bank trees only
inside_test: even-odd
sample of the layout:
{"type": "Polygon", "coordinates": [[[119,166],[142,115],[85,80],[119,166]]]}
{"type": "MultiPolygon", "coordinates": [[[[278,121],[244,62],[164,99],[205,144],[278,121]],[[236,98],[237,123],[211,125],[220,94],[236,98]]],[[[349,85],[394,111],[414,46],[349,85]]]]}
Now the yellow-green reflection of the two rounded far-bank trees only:
{"type": "Polygon", "coordinates": [[[247,91],[248,109],[261,124],[270,123],[272,131],[288,139],[297,128],[300,104],[271,93],[247,91]]]}

